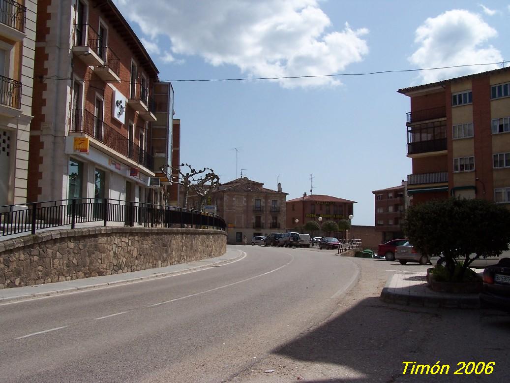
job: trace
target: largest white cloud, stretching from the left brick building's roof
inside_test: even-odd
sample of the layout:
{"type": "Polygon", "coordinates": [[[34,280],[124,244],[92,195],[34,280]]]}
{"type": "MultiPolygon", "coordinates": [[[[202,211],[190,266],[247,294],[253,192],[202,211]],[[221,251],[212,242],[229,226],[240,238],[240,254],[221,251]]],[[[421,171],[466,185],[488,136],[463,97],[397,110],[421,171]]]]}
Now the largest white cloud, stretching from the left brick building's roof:
{"type": "MultiPolygon", "coordinates": [[[[116,0],[122,13],[155,40],[171,45],[162,60],[198,55],[253,77],[335,74],[368,54],[365,28],[332,30],[317,0],[116,0]]],[[[163,49],[162,49],[163,50],[163,49]]],[[[336,78],[274,80],[285,87],[338,85],[336,78]]]]}

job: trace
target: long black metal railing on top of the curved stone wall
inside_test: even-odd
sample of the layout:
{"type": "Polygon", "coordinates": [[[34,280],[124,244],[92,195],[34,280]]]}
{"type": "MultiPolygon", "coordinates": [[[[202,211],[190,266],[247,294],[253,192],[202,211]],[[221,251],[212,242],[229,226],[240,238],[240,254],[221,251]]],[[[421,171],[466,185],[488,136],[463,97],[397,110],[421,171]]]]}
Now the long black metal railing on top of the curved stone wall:
{"type": "Polygon", "coordinates": [[[0,206],[0,236],[76,224],[119,222],[149,227],[209,228],[225,230],[225,221],[210,214],[176,206],[113,200],[109,198],[72,199],[0,206]]]}

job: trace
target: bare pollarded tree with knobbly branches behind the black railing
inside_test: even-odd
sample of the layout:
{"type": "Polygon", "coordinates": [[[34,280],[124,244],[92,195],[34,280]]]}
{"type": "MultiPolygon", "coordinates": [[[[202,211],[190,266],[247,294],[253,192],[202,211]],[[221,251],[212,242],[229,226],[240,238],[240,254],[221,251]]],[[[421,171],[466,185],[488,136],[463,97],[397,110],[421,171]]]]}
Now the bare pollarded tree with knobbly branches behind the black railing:
{"type": "Polygon", "coordinates": [[[172,170],[171,173],[173,173],[173,171],[179,173],[179,176],[175,177],[169,174],[164,167],[161,168],[161,171],[167,175],[171,182],[179,183],[183,187],[184,208],[188,207],[188,194],[190,190],[200,197],[200,209],[202,209],[205,205],[207,196],[220,185],[219,176],[214,173],[214,170],[210,167],[204,167],[203,169],[196,170],[187,163],[181,163],[181,167],[172,167],[168,165],[167,167],[172,170]],[[187,170],[183,171],[183,167],[186,167],[187,170]]]}

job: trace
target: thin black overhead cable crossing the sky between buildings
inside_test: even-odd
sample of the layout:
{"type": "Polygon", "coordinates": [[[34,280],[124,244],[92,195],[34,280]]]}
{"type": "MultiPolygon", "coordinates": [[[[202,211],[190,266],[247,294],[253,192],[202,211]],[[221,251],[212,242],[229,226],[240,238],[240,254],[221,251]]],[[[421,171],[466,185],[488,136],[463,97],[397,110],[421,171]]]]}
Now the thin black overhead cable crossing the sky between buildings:
{"type": "MultiPolygon", "coordinates": [[[[463,68],[467,66],[484,66],[484,65],[504,65],[509,63],[510,61],[500,61],[500,62],[491,62],[485,64],[463,64],[463,65],[450,65],[450,66],[440,66],[435,68],[418,68],[418,69],[393,69],[393,70],[379,70],[373,72],[364,72],[364,73],[337,73],[333,75],[307,75],[307,76],[282,76],[282,77],[241,77],[241,78],[227,78],[227,79],[173,79],[173,80],[160,80],[159,82],[208,82],[208,81],[247,81],[247,80],[294,80],[294,79],[311,79],[311,78],[321,78],[321,77],[348,77],[348,76],[371,76],[371,75],[381,75],[386,73],[405,73],[405,72],[419,72],[425,70],[440,70],[440,69],[452,69],[452,68],[463,68]]],[[[71,80],[71,78],[67,77],[58,77],[58,76],[40,76],[39,78],[44,80],[71,80]]],[[[129,80],[120,80],[121,82],[131,82],[129,80]]]]}

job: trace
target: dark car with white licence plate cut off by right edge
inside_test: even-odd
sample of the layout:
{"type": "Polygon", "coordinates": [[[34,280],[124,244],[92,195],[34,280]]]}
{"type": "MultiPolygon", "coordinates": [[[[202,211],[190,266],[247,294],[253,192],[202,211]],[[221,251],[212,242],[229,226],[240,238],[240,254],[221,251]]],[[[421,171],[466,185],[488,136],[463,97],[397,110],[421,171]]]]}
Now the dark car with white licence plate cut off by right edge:
{"type": "Polygon", "coordinates": [[[510,258],[501,258],[496,265],[483,270],[482,307],[491,307],[510,313],[510,258]]]}

